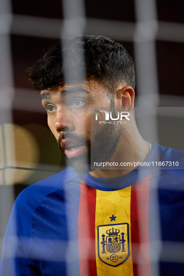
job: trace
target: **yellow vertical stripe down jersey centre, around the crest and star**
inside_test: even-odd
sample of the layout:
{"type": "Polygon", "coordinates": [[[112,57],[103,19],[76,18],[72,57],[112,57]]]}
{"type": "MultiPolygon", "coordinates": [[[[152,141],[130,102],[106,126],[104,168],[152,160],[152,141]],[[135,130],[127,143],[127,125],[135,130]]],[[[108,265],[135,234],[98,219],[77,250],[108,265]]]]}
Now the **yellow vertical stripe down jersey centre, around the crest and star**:
{"type": "MultiPolygon", "coordinates": [[[[117,191],[97,190],[96,212],[95,212],[95,240],[96,240],[96,261],[98,276],[133,276],[132,253],[131,253],[131,227],[130,227],[130,196],[131,186],[117,191]],[[115,221],[109,217],[114,215],[115,221]],[[128,223],[129,224],[129,258],[117,267],[103,263],[98,257],[97,227],[99,225],[128,223]]],[[[105,233],[104,233],[105,234],[105,233]]]]}

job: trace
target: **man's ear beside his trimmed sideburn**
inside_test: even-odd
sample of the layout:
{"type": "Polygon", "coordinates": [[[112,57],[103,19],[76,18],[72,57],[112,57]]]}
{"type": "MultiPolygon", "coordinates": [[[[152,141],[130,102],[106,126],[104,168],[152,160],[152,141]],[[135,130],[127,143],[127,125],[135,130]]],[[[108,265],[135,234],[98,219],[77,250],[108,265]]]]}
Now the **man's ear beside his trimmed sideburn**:
{"type": "Polygon", "coordinates": [[[133,107],[134,106],[134,89],[130,86],[119,87],[114,93],[115,107],[133,107]]]}

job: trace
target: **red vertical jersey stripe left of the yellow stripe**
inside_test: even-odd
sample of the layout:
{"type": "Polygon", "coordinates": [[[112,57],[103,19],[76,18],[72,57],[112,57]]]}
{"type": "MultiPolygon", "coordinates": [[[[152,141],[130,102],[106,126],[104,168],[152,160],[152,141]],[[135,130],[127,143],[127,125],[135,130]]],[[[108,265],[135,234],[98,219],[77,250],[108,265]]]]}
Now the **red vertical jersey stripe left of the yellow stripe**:
{"type": "Polygon", "coordinates": [[[80,184],[78,214],[79,268],[81,276],[97,276],[95,249],[96,189],[80,184]]]}

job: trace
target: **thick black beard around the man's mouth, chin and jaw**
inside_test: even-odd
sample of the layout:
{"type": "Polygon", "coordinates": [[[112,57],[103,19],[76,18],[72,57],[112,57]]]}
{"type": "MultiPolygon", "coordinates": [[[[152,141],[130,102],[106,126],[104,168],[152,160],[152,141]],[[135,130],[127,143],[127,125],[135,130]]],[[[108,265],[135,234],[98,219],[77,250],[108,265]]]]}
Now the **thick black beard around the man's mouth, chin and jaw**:
{"type": "MultiPolygon", "coordinates": [[[[83,136],[66,132],[61,134],[58,139],[58,148],[66,157],[68,164],[78,174],[86,174],[91,169],[91,162],[106,162],[116,150],[117,143],[121,135],[120,124],[105,124],[102,130],[95,135],[91,135],[91,141],[83,136]],[[80,144],[86,145],[87,152],[79,157],[68,158],[61,147],[62,139],[73,139],[80,144]]],[[[86,133],[86,137],[89,133],[86,133]]]]}

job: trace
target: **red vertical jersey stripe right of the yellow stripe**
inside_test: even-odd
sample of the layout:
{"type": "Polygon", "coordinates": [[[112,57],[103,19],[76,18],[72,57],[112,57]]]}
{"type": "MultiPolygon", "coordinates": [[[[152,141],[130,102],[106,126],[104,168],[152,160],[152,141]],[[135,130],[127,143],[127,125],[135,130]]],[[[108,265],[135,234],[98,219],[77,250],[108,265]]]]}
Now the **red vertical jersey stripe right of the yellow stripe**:
{"type": "Polygon", "coordinates": [[[151,173],[131,186],[130,220],[134,276],[151,276],[149,257],[149,182],[151,173]]]}

